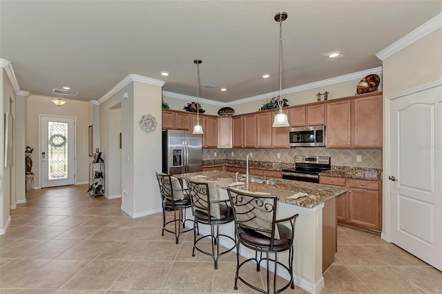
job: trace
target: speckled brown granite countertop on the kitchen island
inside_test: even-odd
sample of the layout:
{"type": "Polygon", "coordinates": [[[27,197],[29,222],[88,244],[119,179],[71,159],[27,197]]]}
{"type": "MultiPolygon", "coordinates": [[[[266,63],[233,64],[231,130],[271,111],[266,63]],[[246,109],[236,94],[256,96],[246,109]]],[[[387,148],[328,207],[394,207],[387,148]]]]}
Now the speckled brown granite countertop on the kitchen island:
{"type": "MultiPolygon", "coordinates": [[[[235,182],[235,173],[224,172],[220,170],[210,170],[205,172],[198,173],[186,173],[180,175],[174,175],[179,179],[191,178],[197,175],[205,176],[204,179],[208,181],[215,181],[218,183],[220,188],[227,188],[229,184],[235,182]]],[[[297,206],[302,206],[305,208],[314,208],[323,202],[326,202],[333,197],[336,197],[345,191],[347,188],[340,186],[330,186],[324,184],[314,184],[307,182],[298,182],[292,181],[289,179],[274,179],[274,178],[266,178],[266,177],[256,177],[258,179],[271,179],[272,181],[277,182],[277,184],[269,185],[269,184],[259,184],[250,182],[249,191],[250,192],[267,192],[271,195],[277,195],[278,200],[280,202],[285,202],[288,204],[294,204],[297,206]],[[288,199],[290,195],[294,195],[295,193],[307,193],[307,197],[300,197],[298,199],[288,199]]],[[[235,186],[233,188],[239,188],[242,190],[246,190],[244,185],[235,186]]]]}

